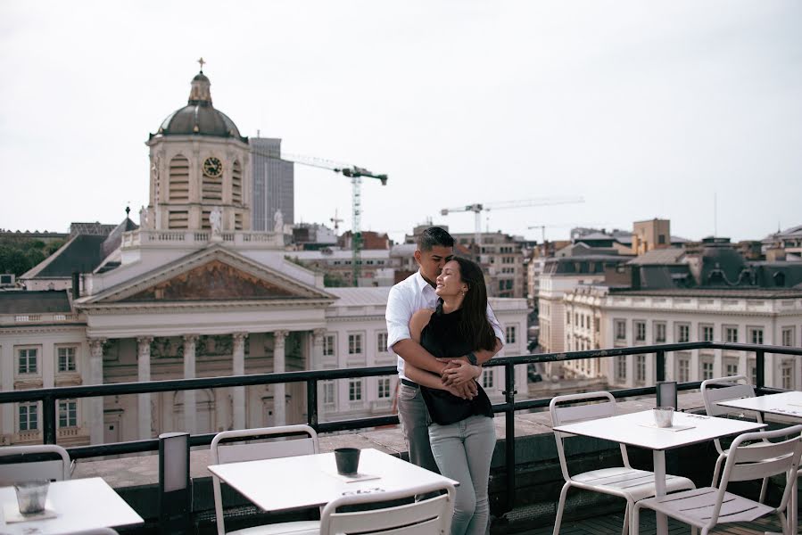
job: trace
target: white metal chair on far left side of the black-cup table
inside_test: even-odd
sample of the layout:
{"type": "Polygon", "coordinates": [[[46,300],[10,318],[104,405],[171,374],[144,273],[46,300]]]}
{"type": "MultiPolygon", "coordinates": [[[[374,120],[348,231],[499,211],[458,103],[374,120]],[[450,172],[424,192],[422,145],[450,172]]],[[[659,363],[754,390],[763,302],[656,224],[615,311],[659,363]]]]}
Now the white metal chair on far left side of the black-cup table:
{"type": "MultiPolygon", "coordinates": [[[[219,432],[211,440],[211,464],[225,465],[226,463],[239,463],[270,459],[277,457],[292,457],[296,455],[312,455],[318,453],[318,433],[309,425],[283,425],[278,427],[261,427],[258,429],[243,429],[219,432]],[[306,435],[303,438],[287,436],[277,439],[279,435],[288,434],[306,435]],[[262,440],[262,441],[253,441],[262,440]],[[227,444],[226,441],[235,442],[227,444]]],[[[244,530],[226,531],[223,519],[223,498],[220,489],[219,477],[212,474],[212,490],[214,491],[214,513],[217,520],[218,535],[278,535],[289,534],[317,535],[320,523],[313,521],[298,521],[273,523],[244,530]]],[[[269,484],[266,482],[265,484],[269,484]]],[[[280,484],[274,481],[273,484],[280,484]]]]}

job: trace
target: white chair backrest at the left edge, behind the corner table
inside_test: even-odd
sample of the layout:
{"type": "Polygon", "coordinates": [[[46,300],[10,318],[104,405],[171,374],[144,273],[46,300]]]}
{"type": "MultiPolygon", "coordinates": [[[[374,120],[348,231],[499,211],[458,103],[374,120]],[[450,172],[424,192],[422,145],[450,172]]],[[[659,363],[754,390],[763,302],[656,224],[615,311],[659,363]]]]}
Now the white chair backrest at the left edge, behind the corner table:
{"type": "Polygon", "coordinates": [[[0,448],[0,483],[70,479],[72,463],[66,449],[55,444],[4,446],[0,448]],[[54,458],[55,457],[55,458],[54,458]]]}

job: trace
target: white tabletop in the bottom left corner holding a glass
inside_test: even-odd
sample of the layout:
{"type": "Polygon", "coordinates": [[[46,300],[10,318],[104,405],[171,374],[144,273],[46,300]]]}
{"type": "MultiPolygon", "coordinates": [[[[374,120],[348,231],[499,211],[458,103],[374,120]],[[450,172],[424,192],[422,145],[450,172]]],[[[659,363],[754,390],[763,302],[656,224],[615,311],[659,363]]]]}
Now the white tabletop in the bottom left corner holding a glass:
{"type": "Polygon", "coordinates": [[[99,477],[54,481],[47,490],[54,518],[6,523],[4,505],[16,503],[13,487],[0,487],[0,532],[9,534],[55,535],[96,528],[113,528],[145,523],[139,514],[99,477]]]}

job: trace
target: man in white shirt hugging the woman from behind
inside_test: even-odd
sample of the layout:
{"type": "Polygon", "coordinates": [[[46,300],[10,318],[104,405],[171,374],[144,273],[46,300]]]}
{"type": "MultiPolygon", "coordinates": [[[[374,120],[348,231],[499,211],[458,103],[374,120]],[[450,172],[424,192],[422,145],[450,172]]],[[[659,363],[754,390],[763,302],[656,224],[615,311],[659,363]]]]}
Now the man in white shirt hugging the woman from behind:
{"type": "MultiPolygon", "coordinates": [[[[409,381],[404,375],[404,362],[441,375],[446,369],[455,366],[438,361],[409,335],[409,319],[412,315],[419,309],[434,309],[437,304],[434,280],[453,256],[454,238],[439,226],[427,228],[418,236],[418,249],[415,251],[415,260],[420,268],[417,273],[393,286],[387,298],[385,313],[387,350],[398,356],[398,375],[401,382],[398,392],[398,416],[409,450],[409,460],[432,472],[438,470],[429,446],[426,404],[418,384],[409,381]]],[[[487,318],[496,333],[495,349],[477,350],[466,356],[453,355],[453,358],[462,358],[470,364],[481,365],[499,352],[503,344],[503,334],[490,305],[487,307],[487,318]]],[[[475,395],[473,381],[452,383],[451,386],[452,393],[461,397],[471,398],[475,395]]]]}

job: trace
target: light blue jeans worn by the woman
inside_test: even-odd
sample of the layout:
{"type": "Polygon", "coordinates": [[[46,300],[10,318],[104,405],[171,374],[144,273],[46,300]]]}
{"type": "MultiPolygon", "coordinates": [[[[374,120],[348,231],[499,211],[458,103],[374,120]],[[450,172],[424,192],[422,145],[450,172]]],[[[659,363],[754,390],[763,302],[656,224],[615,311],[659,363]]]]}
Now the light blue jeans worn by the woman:
{"type": "Polygon", "coordinates": [[[429,441],[440,473],[459,481],[451,535],[484,535],[490,520],[487,482],[496,446],[493,419],[471,416],[456,424],[431,424],[429,441]]]}

